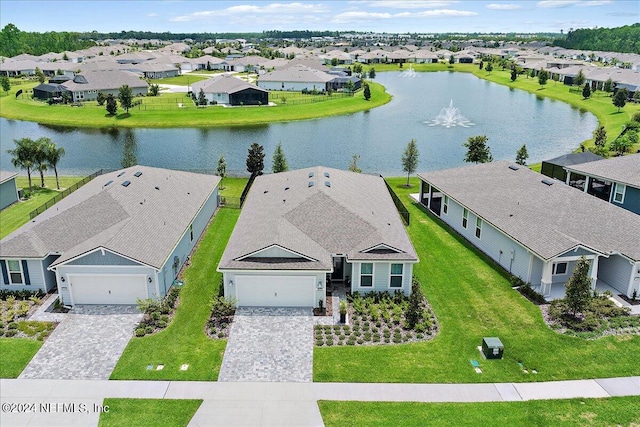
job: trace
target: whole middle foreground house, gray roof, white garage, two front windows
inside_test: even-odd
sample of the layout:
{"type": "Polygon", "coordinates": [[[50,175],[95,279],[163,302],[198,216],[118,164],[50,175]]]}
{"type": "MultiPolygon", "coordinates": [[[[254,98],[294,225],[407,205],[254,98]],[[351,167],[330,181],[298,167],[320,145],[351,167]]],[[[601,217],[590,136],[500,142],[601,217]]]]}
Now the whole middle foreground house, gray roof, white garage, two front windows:
{"type": "Polygon", "coordinates": [[[316,307],[327,282],[408,295],[417,262],[382,177],[318,166],[256,178],[218,271],[239,306],[316,307]]]}

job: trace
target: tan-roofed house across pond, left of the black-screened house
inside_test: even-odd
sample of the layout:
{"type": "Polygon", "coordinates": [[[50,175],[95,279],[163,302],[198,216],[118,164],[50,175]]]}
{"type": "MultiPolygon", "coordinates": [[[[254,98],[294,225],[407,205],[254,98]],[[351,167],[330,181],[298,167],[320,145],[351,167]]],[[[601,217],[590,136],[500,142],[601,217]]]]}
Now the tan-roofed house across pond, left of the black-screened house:
{"type": "Polygon", "coordinates": [[[133,73],[119,70],[89,71],[62,83],[71,93],[73,102],[93,101],[98,97],[98,92],[117,96],[122,85],[128,85],[134,96],[146,95],[149,91],[146,81],[133,73]]]}

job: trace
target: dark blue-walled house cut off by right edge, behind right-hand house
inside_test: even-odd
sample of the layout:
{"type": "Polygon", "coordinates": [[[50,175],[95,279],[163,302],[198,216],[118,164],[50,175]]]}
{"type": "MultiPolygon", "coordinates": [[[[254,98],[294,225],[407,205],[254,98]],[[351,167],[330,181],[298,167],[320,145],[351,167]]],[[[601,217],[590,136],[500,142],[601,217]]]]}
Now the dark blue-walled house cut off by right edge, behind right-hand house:
{"type": "Polygon", "coordinates": [[[567,184],[640,215],[640,154],[566,166],[567,184]]]}

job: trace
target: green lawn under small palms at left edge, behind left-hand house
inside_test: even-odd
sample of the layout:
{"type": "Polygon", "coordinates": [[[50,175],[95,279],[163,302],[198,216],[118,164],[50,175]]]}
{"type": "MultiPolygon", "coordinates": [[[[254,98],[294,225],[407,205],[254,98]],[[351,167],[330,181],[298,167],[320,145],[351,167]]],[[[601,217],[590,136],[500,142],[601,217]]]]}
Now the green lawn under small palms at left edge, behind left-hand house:
{"type": "MultiPolygon", "coordinates": [[[[60,177],[60,191],[80,181],[82,177],[65,176],[60,177]]],[[[58,194],[55,177],[45,176],[45,188],[40,187],[40,175],[34,174],[31,177],[32,196],[29,200],[9,206],[0,211],[0,239],[12,233],[20,226],[29,221],[29,213],[40,205],[48,202],[58,194]]],[[[16,177],[18,188],[29,188],[29,180],[26,176],[16,177]]]]}

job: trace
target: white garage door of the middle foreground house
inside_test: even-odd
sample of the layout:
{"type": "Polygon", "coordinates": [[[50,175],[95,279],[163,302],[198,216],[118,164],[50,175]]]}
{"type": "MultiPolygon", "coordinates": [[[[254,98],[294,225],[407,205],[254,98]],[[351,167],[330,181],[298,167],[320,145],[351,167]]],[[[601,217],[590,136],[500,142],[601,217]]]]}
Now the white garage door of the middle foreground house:
{"type": "Polygon", "coordinates": [[[315,276],[236,276],[243,307],[313,307],[315,276]]]}

